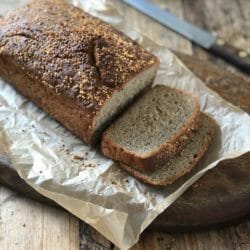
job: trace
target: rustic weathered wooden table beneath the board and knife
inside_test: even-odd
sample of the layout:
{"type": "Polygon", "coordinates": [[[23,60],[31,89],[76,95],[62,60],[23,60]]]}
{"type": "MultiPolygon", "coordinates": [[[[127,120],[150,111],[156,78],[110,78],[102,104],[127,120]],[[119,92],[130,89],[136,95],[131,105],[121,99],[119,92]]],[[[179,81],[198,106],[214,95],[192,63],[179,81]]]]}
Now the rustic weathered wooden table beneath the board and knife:
{"type": "MultiPolygon", "coordinates": [[[[210,60],[236,72],[189,41],[116,2],[127,21],[169,48],[210,60]],[[136,20],[143,20],[138,25],[136,20]]],[[[227,41],[250,52],[250,1],[248,0],[155,0],[200,27],[217,32],[227,41]]],[[[239,72],[236,72],[239,73],[239,72]]],[[[247,77],[247,76],[244,76],[247,77]]],[[[0,249],[75,250],[113,249],[94,229],[69,213],[48,207],[0,187],[0,249]]],[[[133,249],[250,249],[250,222],[196,233],[145,232],[133,249]]]]}

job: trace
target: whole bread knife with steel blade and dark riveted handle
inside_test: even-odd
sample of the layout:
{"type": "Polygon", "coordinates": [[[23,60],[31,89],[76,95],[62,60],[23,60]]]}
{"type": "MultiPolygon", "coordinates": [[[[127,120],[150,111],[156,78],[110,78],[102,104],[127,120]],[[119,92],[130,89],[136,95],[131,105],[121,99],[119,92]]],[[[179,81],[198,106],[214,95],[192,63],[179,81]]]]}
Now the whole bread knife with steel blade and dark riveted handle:
{"type": "Polygon", "coordinates": [[[247,51],[235,48],[222,38],[178,18],[147,0],[123,0],[123,2],[250,74],[250,54],[247,51]]]}

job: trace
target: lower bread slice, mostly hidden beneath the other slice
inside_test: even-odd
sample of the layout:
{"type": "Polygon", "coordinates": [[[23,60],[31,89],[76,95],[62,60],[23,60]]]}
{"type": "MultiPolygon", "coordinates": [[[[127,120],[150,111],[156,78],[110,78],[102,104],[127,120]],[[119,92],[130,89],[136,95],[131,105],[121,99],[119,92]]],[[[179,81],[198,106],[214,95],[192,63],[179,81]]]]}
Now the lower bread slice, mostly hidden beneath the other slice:
{"type": "Polygon", "coordinates": [[[213,137],[215,122],[207,115],[202,115],[200,128],[190,138],[188,144],[175,156],[170,158],[163,167],[153,172],[142,172],[125,164],[120,166],[139,180],[158,186],[173,183],[188,173],[207,150],[213,137]]]}

